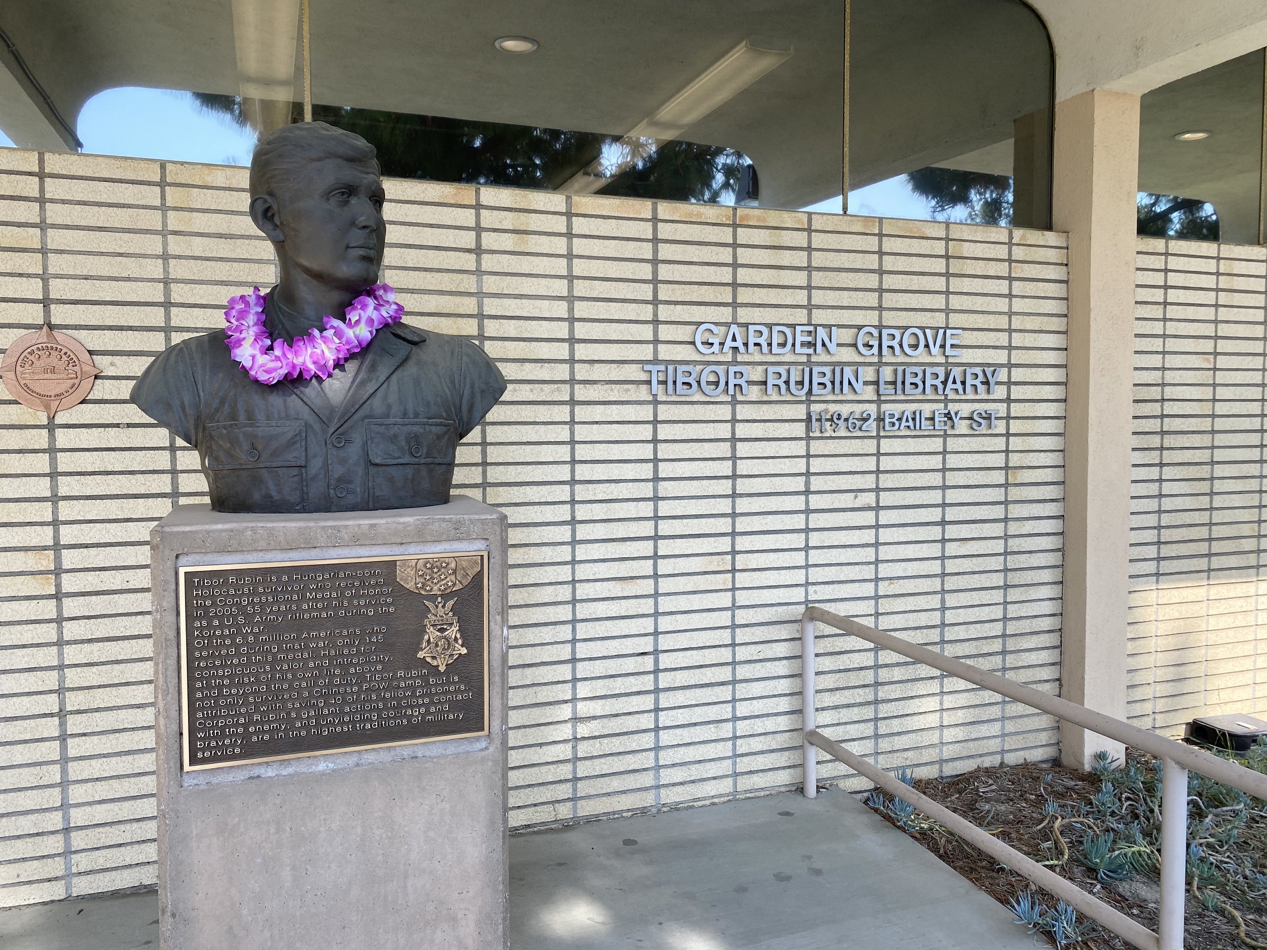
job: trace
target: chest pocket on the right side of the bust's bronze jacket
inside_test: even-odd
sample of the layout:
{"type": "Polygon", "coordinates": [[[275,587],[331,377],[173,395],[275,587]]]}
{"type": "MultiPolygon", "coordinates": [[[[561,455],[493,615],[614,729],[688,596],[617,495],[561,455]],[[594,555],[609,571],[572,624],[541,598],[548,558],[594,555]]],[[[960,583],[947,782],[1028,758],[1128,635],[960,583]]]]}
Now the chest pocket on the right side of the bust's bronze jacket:
{"type": "Polygon", "coordinates": [[[454,483],[457,429],[447,419],[370,419],[370,503],[374,508],[445,504],[454,483]]]}

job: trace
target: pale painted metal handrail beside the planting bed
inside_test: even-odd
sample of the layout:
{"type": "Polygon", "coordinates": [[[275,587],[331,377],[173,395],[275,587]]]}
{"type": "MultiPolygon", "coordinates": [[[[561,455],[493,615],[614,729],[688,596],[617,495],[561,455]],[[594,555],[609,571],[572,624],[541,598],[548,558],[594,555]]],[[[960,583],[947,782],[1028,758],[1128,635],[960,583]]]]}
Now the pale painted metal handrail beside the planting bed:
{"type": "Polygon", "coordinates": [[[1049,695],[1033,687],[1022,687],[995,673],[987,673],[963,660],[955,660],[916,646],[891,633],[882,633],[856,621],[825,611],[806,608],[801,614],[801,702],[803,716],[803,793],[807,798],[817,794],[817,759],[815,749],[821,749],[854,771],[864,775],[889,794],[898,795],[921,812],[944,825],[964,841],[981,849],[991,858],[1006,864],[1044,890],[1055,894],[1087,917],[1140,950],[1183,950],[1183,899],[1187,861],[1187,774],[1188,769],[1211,779],[1238,788],[1254,798],[1267,798],[1267,775],[1216,755],[1176,742],[1173,738],[1131,726],[1095,709],[1088,709],[1068,699],[1049,695]],[[1048,870],[1011,845],[988,835],[972,822],[959,817],[931,798],[916,792],[901,779],[875,768],[865,759],[832,742],[816,728],[815,690],[815,622],[835,627],[843,633],[865,640],[882,650],[889,650],[907,659],[922,662],[952,676],[967,680],[1009,699],[1025,703],[1035,709],[1055,716],[1096,735],[1139,749],[1162,760],[1162,899],[1158,932],[1115,909],[1097,897],[1048,870]]]}

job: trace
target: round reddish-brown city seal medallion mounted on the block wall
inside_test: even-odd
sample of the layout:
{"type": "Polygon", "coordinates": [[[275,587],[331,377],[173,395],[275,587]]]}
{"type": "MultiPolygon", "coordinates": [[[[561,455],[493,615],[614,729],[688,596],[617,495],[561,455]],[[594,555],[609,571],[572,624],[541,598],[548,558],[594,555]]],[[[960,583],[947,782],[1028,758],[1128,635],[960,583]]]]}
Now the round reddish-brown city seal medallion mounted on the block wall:
{"type": "Polygon", "coordinates": [[[48,324],[18,337],[0,361],[0,376],[14,399],[53,418],[61,409],[79,405],[92,389],[100,370],[87,350],[48,324]]]}

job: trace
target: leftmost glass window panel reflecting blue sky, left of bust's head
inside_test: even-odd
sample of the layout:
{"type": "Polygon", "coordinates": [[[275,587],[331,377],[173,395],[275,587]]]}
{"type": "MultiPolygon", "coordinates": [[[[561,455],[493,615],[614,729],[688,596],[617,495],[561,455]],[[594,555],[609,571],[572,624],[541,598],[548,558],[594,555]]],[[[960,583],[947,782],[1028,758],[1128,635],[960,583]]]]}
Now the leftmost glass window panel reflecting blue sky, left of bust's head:
{"type": "Polygon", "coordinates": [[[27,148],[242,163],[300,87],[299,0],[41,0],[0,25],[0,129],[27,148]],[[241,98],[247,122],[193,94],[241,98]]]}

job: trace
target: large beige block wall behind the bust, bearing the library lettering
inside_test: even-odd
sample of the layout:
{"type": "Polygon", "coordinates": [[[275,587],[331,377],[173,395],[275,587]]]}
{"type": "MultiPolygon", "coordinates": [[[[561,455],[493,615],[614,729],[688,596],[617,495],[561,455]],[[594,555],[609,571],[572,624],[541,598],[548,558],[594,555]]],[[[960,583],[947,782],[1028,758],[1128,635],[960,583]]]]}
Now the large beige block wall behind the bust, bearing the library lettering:
{"type": "MultiPolygon", "coordinates": [[[[0,904],[155,880],[147,533],[205,484],[127,393],[272,280],[245,185],[0,149],[0,346],[47,315],[104,370],[52,423],[0,399],[0,904]]],[[[511,519],[516,827],[796,785],[806,603],[1057,692],[1062,236],[418,181],[388,196],[407,319],[479,339],[511,381],[456,490],[511,519]],[[960,365],[1010,369],[996,398],[952,404],[1007,419],[810,436],[811,407],[874,391],[651,399],[641,365],[704,362],[704,320],[963,327],[960,365]]],[[[851,341],[837,361],[858,362],[851,341]]],[[[763,360],[788,362],[736,362],[763,360]]],[[[821,641],[820,727],[884,768],[1055,755],[1045,717],[821,641]]]]}

